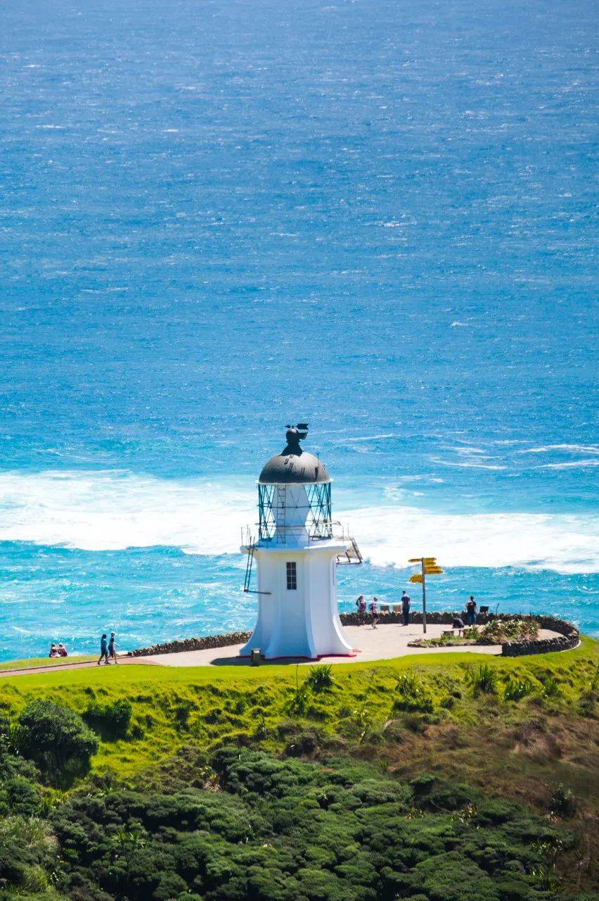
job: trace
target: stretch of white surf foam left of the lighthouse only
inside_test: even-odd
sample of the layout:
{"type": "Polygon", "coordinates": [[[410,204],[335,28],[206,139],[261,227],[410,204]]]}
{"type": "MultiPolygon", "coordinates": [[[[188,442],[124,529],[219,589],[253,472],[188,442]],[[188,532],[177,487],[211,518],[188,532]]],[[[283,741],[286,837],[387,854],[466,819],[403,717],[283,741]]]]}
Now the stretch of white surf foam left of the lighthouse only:
{"type": "Polygon", "coordinates": [[[129,472],[0,473],[0,540],[86,551],[171,545],[203,554],[236,551],[255,521],[246,489],[209,479],[129,472]]]}

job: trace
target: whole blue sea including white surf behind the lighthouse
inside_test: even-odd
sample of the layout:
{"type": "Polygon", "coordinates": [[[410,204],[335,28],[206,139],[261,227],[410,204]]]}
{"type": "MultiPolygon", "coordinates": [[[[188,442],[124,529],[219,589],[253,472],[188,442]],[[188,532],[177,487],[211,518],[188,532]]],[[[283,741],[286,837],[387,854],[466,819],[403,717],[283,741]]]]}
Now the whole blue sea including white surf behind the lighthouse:
{"type": "Polygon", "coordinates": [[[4,5],[0,659],[251,627],[298,421],[342,609],[425,554],[433,608],[599,634],[595,44],[590,0],[4,5]]]}

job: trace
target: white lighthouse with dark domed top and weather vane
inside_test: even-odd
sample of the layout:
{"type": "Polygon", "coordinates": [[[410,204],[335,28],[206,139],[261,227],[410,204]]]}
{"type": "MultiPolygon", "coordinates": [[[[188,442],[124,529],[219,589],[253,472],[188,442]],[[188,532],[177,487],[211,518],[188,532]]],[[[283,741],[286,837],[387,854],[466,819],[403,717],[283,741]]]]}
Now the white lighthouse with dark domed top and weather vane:
{"type": "Polygon", "coordinates": [[[288,426],[286,446],[258,479],[258,523],[248,530],[245,590],[257,569],[258,617],[241,656],[260,649],[266,660],[329,655],[353,649],[339,618],[338,563],[360,563],[356,543],[332,519],[326,466],[301,446],[308,425],[288,426]]]}

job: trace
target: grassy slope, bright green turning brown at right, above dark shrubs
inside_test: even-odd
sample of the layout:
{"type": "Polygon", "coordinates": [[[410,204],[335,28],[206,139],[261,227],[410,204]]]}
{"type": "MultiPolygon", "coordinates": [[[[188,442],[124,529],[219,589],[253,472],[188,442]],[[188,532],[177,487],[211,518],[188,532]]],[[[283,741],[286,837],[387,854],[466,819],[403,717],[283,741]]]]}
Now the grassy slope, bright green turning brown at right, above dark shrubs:
{"type": "Polygon", "coordinates": [[[210,772],[210,755],[233,743],[276,759],[363,758],[404,780],[430,772],[544,817],[566,799],[568,828],[593,861],[598,667],[599,642],[586,637],[575,651],[523,658],[457,651],[335,664],[332,681],[322,668],[284,664],[57,667],[0,679],[0,714],[14,722],[45,698],[89,719],[129,702],[126,737],[102,740],[94,754],[93,791],[159,792],[175,777],[193,785],[210,772]]]}

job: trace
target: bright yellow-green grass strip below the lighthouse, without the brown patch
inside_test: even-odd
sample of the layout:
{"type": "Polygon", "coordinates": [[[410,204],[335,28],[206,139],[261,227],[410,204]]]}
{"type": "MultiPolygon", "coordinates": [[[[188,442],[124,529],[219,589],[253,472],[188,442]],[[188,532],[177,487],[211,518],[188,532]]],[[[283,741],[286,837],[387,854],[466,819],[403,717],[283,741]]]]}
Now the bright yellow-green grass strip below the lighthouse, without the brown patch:
{"type": "MultiPolygon", "coordinates": [[[[510,724],[531,709],[574,711],[586,683],[592,681],[599,661],[599,642],[583,638],[575,651],[535,655],[528,658],[487,656],[484,662],[497,674],[502,722],[510,724]],[[543,697],[546,678],[559,683],[559,694],[543,697]],[[502,706],[505,684],[528,679],[532,695],[502,706]]],[[[20,661],[26,665],[26,661],[20,661]]],[[[296,679],[301,687],[310,669],[293,665],[249,667],[157,667],[135,664],[120,667],[58,669],[40,674],[6,677],[0,681],[0,709],[9,716],[37,696],[73,707],[83,713],[92,704],[125,699],[133,708],[132,737],[102,742],[94,758],[96,772],[114,771],[130,777],[158,759],[165,759],[190,742],[210,749],[240,735],[255,736],[269,750],[285,743],[282,720],[291,718],[306,728],[317,728],[326,736],[369,735],[394,719],[398,704],[398,678],[416,674],[433,725],[443,721],[475,726],[480,721],[485,698],[475,698],[469,673],[480,660],[468,652],[423,654],[397,660],[336,664],[331,691],[304,692],[301,705],[294,705],[296,679]]],[[[408,705],[409,706],[409,705],[408,705]]],[[[417,707],[417,705],[416,705],[417,707]]],[[[404,705],[404,710],[408,707],[404,705]]],[[[412,707],[412,715],[417,715],[412,707]]]]}

